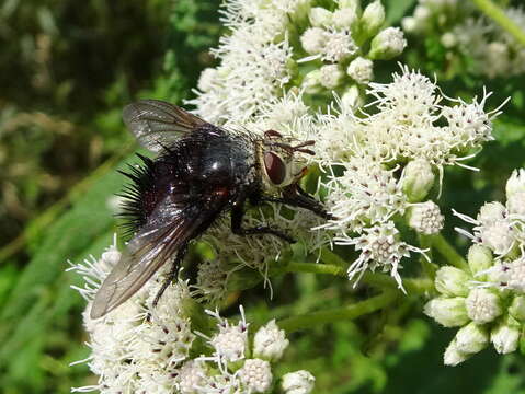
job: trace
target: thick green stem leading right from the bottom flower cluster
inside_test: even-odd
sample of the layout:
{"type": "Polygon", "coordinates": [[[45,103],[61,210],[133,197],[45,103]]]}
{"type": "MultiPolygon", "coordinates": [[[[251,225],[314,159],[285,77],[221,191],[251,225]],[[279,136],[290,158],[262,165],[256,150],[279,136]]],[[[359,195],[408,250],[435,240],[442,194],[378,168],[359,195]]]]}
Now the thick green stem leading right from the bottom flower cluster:
{"type": "Polygon", "coordinates": [[[397,292],[387,290],[379,296],[372,297],[365,301],[356,302],[352,305],[333,308],[326,311],[288,317],[279,321],[277,325],[287,333],[292,333],[298,329],[310,328],[326,323],[353,320],[387,306],[388,304],[392,303],[397,297],[397,292]]]}

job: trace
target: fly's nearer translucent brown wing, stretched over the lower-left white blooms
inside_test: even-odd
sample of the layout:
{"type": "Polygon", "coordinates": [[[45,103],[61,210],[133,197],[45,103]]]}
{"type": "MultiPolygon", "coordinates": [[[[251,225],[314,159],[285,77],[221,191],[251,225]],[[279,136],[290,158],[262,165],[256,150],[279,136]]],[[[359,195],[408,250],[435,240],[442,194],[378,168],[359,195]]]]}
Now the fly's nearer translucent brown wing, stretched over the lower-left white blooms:
{"type": "Polygon", "coordinates": [[[161,202],[161,212],[152,215],[157,220],[140,229],[105,278],[93,300],[91,318],[102,317],[140,290],[184,243],[213,223],[226,202],[220,195],[206,206],[197,200],[182,209],[161,202]]]}

